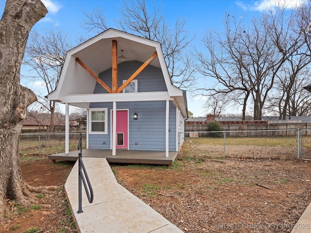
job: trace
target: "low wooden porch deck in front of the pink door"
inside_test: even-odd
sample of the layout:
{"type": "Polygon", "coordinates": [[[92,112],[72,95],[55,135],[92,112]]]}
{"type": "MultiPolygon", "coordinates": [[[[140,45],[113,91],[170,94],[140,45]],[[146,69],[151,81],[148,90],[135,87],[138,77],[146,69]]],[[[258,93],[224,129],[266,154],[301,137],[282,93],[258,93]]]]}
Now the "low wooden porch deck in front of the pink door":
{"type": "MultiPolygon", "coordinates": [[[[76,161],[79,151],[69,151],[68,154],[58,153],[49,155],[48,158],[53,163],[56,160],[76,161]]],[[[84,149],[82,157],[91,158],[106,158],[108,163],[121,164],[153,164],[153,165],[168,165],[171,166],[178,155],[177,151],[169,152],[169,157],[165,157],[165,151],[150,151],[150,150],[116,150],[116,155],[112,155],[112,150],[101,149],[84,149]]]]}

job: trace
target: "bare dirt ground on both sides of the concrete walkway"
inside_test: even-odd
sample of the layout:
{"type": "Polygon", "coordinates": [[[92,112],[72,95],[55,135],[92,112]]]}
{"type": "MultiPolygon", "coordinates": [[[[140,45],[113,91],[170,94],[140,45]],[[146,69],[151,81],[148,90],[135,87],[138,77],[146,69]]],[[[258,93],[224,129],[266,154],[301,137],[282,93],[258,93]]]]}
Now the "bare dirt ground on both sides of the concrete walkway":
{"type": "MultiPolygon", "coordinates": [[[[291,159],[179,156],[172,166],[111,165],[118,182],[184,232],[289,233],[311,202],[311,163],[291,159]]],[[[22,163],[33,186],[59,185],[38,205],[11,214],[0,232],[73,233],[63,184],[73,163],[46,158],[22,163]]],[[[308,227],[308,226],[305,226],[308,227]]],[[[311,226],[309,226],[311,227],[311,226]]]]}

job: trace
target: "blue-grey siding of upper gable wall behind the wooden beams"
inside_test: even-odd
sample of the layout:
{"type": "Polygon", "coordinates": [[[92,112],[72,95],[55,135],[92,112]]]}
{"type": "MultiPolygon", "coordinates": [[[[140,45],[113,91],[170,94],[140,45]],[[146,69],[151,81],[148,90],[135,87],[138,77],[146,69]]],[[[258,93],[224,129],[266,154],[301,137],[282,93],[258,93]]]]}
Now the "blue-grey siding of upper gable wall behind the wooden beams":
{"type": "MultiPolygon", "coordinates": [[[[118,87],[123,84],[140,66],[141,62],[128,61],[118,65],[118,87]]],[[[110,88],[112,86],[112,69],[107,69],[99,74],[99,78],[104,81],[110,88]]],[[[157,67],[147,66],[135,78],[138,80],[138,92],[150,91],[167,91],[162,70],[157,67]]],[[[96,83],[94,94],[108,93],[101,84],[96,83]]]]}

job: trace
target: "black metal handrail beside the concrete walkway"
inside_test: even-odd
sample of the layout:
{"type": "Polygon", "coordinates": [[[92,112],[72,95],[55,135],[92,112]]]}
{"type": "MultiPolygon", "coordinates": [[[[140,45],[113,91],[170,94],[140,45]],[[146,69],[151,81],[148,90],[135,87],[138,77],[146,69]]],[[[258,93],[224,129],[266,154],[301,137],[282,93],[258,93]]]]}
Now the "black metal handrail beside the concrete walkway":
{"type": "Polygon", "coordinates": [[[87,196],[87,200],[89,203],[93,202],[94,199],[94,193],[93,193],[93,188],[92,185],[88,179],[88,175],[86,172],[86,167],[84,166],[84,163],[82,161],[82,133],[80,133],[80,140],[78,143],[78,150],[80,150],[79,152],[79,210],[78,210],[78,214],[83,213],[82,210],[82,182],[84,185],[84,189],[86,190],[86,196],[87,196]],[[83,170],[83,172],[82,172],[83,170]],[[85,178],[84,178],[85,177],[85,178]],[[86,182],[87,182],[87,186],[86,186],[86,182]],[[88,189],[87,189],[88,187],[88,189]]]}

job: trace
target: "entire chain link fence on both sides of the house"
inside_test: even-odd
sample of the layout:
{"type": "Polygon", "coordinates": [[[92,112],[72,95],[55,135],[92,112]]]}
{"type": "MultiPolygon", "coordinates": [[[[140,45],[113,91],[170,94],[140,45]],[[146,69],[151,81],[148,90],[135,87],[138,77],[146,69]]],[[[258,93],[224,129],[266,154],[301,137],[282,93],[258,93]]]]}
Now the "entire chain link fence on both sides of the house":
{"type": "MultiPolygon", "coordinates": [[[[69,133],[69,150],[77,150],[82,133],[86,148],[86,132],[69,133]]],[[[184,132],[183,156],[236,158],[302,158],[311,160],[311,130],[184,132]]],[[[19,153],[55,154],[65,151],[65,133],[21,133],[19,153]]]]}

